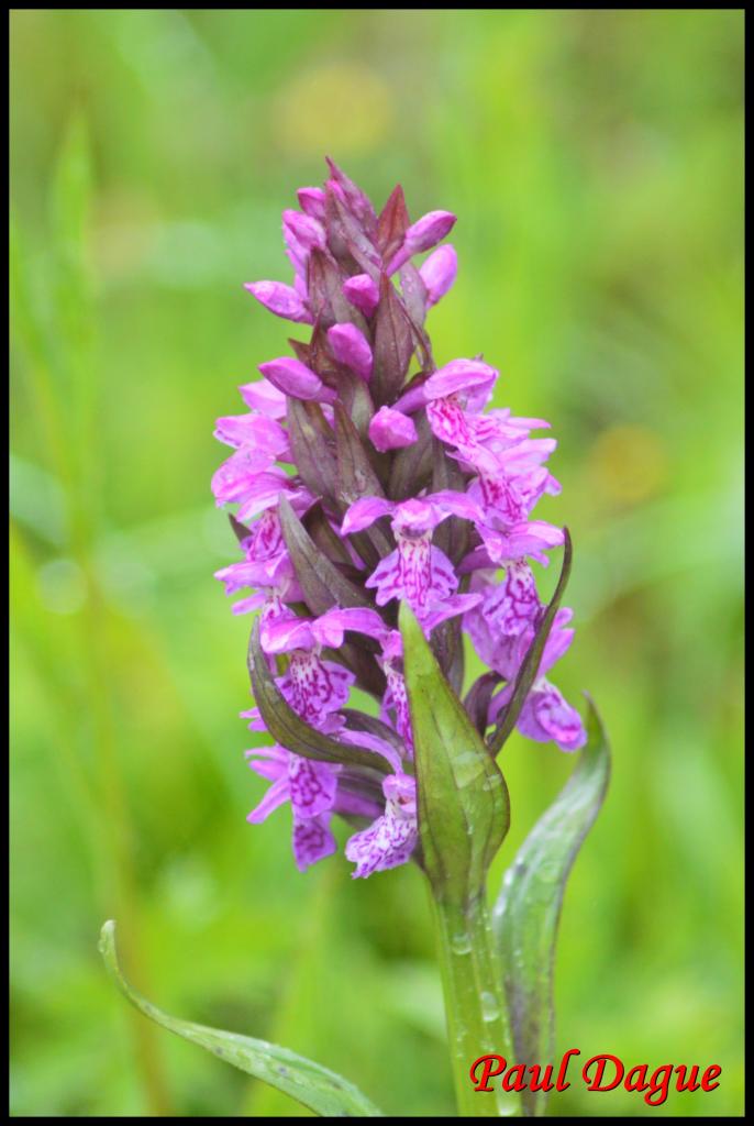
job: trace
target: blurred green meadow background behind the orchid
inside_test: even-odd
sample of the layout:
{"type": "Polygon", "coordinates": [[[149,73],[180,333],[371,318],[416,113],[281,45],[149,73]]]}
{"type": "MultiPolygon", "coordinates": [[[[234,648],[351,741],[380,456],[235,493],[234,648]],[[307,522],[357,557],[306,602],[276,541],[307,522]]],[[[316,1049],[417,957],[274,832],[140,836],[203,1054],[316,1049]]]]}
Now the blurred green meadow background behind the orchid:
{"type": "MultiPolygon", "coordinates": [[[[558,1049],[722,1067],[658,1110],[574,1084],[550,1114],[742,1111],[742,74],[735,10],[11,14],[15,1115],[299,1114],[127,1010],[108,917],[168,1011],[452,1114],[419,872],[299,875],[285,812],[244,821],[249,618],[212,577],[213,422],[287,347],[242,283],[289,280],[279,213],[325,153],[378,205],[401,181],[413,218],[460,216],[436,356],[484,352],[560,439],[559,683],[614,770],[558,1049]]],[[[493,888],[572,765],[519,736],[504,760],[493,888]]]]}

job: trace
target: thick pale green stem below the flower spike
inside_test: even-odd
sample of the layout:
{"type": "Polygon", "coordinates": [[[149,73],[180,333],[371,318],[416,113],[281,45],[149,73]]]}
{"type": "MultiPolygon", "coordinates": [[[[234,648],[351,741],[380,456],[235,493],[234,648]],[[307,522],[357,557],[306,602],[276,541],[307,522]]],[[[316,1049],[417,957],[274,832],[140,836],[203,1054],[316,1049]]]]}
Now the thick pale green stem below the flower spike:
{"type": "Polygon", "coordinates": [[[475,1091],[469,1075],[479,1056],[513,1060],[503,975],[484,899],[458,904],[432,899],[440,953],[448,1039],[459,1117],[520,1115],[521,1098],[491,1079],[475,1091]]]}

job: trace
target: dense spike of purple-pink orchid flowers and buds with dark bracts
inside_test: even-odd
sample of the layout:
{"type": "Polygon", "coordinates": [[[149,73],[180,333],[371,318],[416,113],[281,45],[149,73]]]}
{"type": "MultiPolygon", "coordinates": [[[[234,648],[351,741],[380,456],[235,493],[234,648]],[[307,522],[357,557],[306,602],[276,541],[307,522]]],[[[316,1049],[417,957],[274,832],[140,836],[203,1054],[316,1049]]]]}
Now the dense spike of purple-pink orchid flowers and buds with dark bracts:
{"type": "MultiPolygon", "coordinates": [[[[259,365],[262,378],[240,388],[245,413],[217,420],[233,453],[213,492],[235,506],[242,552],[217,578],[226,593],[245,592],[234,613],[259,611],[264,661],[298,720],[391,768],[318,761],[277,742],[249,751],[270,781],[249,821],[289,804],[305,869],[335,850],[339,814],[358,830],[345,844],[353,875],[369,876],[404,864],[418,840],[400,602],[459,695],[470,640],[496,689],[473,686],[467,699],[478,722],[484,697],[492,726],[545,610],[531,561],[546,565],[564,535],[532,519],[560,488],[546,465],[555,440],[531,436],[548,423],[487,409],[499,373],[481,358],[434,363],[425,316],[456,279],[456,251],[439,245],[456,216],[412,223],[400,187],[378,215],[327,163],[324,187],[300,188],[300,209],[282,215],[291,284],[246,285],[311,337],[259,365]],[[348,707],[353,688],[375,698],[376,715],[348,707]]],[[[558,610],[518,718],[524,735],[565,751],[584,744],[584,727],[548,673],[572,642],[571,617],[558,610]]],[[[259,708],[242,714],[267,730],[259,708]]]]}

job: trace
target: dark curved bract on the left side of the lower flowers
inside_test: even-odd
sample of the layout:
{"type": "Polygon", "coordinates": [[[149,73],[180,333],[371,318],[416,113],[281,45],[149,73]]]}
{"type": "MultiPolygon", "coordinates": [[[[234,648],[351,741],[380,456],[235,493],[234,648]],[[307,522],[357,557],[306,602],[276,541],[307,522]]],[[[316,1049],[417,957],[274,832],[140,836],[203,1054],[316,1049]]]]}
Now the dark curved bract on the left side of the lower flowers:
{"type": "Polygon", "coordinates": [[[321,762],[351,762],[388,774],[391,765],[375,751],[359,750],[341,743],[330,735],[311,727],[298,716],[282,696],[275,682],[259,641],[259,620],[251,627],[249,637],[249,676],[251,690],[261,713],[264,726],[280,747],[321,762]]]}

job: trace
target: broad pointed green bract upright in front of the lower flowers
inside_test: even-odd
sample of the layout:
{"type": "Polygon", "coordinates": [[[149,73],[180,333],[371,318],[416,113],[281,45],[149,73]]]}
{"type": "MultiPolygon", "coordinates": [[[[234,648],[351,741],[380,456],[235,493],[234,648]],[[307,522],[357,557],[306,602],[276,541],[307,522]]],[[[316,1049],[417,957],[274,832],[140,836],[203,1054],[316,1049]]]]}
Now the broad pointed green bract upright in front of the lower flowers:
{"type": "Polygon", "coordinates": [[[400,620],[423,865],[438,901],[466,905],[508,832],[508,788],[405,604],[400,620]]]}

